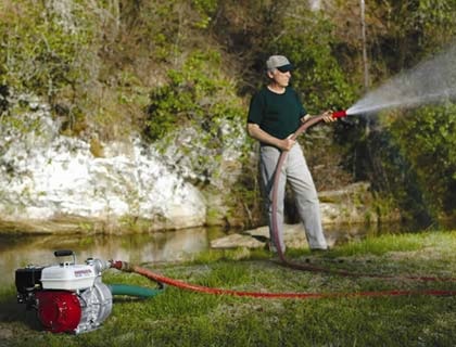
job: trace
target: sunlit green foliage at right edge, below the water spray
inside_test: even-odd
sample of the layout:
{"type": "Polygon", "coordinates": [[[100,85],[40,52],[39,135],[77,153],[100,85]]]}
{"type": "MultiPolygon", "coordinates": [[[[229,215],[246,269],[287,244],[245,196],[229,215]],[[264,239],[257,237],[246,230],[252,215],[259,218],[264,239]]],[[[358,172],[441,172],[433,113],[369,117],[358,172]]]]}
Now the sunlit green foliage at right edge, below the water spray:
{"type": "Polygon", "coordinates": [[[410,111],[392,124],[391,131],[411,163],[422,193],[435,211],[456,208],[456,105],[410,111]],[[430,189],[432,187],[432,189],[430,189]]]}

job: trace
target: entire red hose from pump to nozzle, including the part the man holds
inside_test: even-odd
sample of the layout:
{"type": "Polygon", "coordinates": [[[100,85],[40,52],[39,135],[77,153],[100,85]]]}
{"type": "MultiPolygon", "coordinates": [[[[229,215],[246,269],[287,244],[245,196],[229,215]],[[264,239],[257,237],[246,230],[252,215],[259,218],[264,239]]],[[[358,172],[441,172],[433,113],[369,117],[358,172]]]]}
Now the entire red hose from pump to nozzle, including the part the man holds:
{"type": "MultiPolygon", "coordinates": [[[[332,114],[332,117],[340,118],[345,117],[346,112],[340,111],[332,114]]],[[[316,125],[317,123],[324,119],[324,115],[313,117],[306,123],[304,123],[292,136],[292,139],[295,140],[297,136],[302,132],[306,131],[309,127],[316,125]]],[[[276,176],[274,181],[273,188],[273,236],[276,245],[280,245],[280,235],[278,232],[278,221],[277,221],[277,189],[278,189],[278,181],[281,167],[283,165],[284,159],[287,158],[287,151],[283,151],[279,157],[277,168],[276,168],[276,176]]],[[[289,261],[281,249],[280,246],[276,247],[279,258],[283,265],[299,270],[307,270],[307,271],[315,271],[315,272],[326,272],[326,273],[333,273],[339,275],[346,275],[346,277],[356,277],[356,278],[377,278],[377,279],[397,279],[397,280],[411,280],[411,281],[433,281],[433,282],[455,282],[456,279],[440,279],[433,277],[393,277],[393,275],[381,275],[381,274],[368,274],[368,273],[354,273],[344,270],[331,270],[320,267],[314,267],[309,265],[301,265],[294,264],[289,261]]],[[[174,280],[159,273],[155,273],[149,269],[144,269],[138,266],[130,266],[126,261],[112,261],[112,268],[128,271],[128,272],[136,272],[138,274],[144,275],[148,279],[163,283],[173,285],[182,290],[205,293],[205,294],[214,294],[214,295],[231,295],[231,296],[245,296],[245,297],[255,297],[255,298],[294,298],[294,299],[308,299],[308,298],[329,298],[329,297],[360,297],[360,296],[369,296],[369,297],[378,297],[378,296],[404,296],[404,295],[432,295],[432,296],[456,296],[456,291],[443,291],[443,290],[415,290],[415,291],[377,291],[377,292],[353,292],[353,293],[266,293],[266,292],[244,292],[244,291],[233,291],[233,290],[224,290],[224,288],[214,288],[202,286],[198,284],[190,284],[183,281],[174,280]]]]}

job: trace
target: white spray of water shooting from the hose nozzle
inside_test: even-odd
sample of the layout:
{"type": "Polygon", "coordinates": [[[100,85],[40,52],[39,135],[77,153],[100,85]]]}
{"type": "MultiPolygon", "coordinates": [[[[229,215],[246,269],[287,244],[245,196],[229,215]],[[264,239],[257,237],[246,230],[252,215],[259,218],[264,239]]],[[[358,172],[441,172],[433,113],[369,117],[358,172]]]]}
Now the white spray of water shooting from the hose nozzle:
{"type": "Polygon", "coordinates": [[[456,97],[456,46],[388,80],[351,106],[349,115],[409,108],[456,97]]]}

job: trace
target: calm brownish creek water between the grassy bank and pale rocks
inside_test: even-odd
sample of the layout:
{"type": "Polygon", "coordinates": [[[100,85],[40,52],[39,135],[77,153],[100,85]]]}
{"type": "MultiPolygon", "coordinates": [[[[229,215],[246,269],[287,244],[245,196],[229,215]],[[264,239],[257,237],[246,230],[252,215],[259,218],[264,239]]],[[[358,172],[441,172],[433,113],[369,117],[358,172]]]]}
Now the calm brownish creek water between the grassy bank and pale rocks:
{"type": "MultiPolygon", "coordinates": [[[[456,227],[456,224],[454,226],[456,227]]],[[[385,232],[417,231],[410,226],[400,223],[367,227],[350,224],[326,227],[327,237],[331,243],[342,244],[385,232]]],[[[416,227],[414,227],[416,228],[416,227]]],[[[449,228],[448,228],[449,229],[449,228]]],[[[125,260],[134,264],[176,262],[189,260],[210,248],[211,240],[223,237],[230,232],[221,229],[193,228],[153,234],[128,235],[21,235],[11,236],[0,233],[0,286],[13,285],[14,273],[27,265],[54,265],[56,249],[72,249],[76,262],[87,258],[104,260],[125,260]]]]}

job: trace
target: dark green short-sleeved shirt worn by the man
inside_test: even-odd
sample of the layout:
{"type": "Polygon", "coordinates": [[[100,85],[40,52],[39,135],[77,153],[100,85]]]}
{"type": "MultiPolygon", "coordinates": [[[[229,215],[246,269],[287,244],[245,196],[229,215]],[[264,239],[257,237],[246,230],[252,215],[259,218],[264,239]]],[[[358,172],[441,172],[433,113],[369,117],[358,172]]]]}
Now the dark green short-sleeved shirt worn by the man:
{"type": "Polygon", "coordinates": [[[296,91],[287,87],[277,94],[263,87],[252,98],[248,123],[257,124],[261,129],[278,139],[286,139],[301,126],[301,117],[307,114],[296,91]]]}

